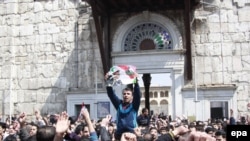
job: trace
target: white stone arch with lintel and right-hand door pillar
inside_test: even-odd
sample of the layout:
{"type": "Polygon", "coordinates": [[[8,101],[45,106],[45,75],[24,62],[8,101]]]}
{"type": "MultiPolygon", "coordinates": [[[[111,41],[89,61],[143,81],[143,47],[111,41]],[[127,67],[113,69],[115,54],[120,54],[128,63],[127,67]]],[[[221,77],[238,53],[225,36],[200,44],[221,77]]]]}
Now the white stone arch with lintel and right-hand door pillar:
{"type": "Polygon", "coordinates": [[[169,111],[173,112],[170,113],[173,117],[175,115],[182,115],[182,103],[178,101],[182,101],[181,88],[184,86],[185,50],[183,49],[182,36],[174,22],[160,14],[148,12],[148,14],[145,15],[144,13],[141,13],[122,23],[113,37],[111,52],[112,65],[134,65],[137,67],[137,72],[140,74],[170,73],[172,79],[172,102],[169,105],[169,111]],[[125,49],[125,44],[127,39],[129,39],[128,36],[130,36],[130,33],[135,34],[135,36],[140,33],[152,33],[147,33],[146,31],[133,31],[134,29],[136,30],[137,27],[142,27],[144,23],[146,26],[156,26],[154,29],[164,29],[163,31],[168,31],[171,36],[171,49],[161,49],[161,44],[156,43],[154,43],[155,46],[153,46],[153,43],[150,40],[154,40],[154,36],[149,36],[148,38],[143,36],[145,38],[140,38],[139,35],[138,39],[133,40],[135,45],[132,48],[129,48],[128,46],[128,50],[125,49]],[[148,47],[147,44],[144,46],[146,49],[143,47],[143,50],[138,50],[138,48],[141,47],[140,45],[144,44],[144,42],[147,42],[148,44],[151,43],[152,46],[148,47]],[[156,49],[153,49],[154,47],[156,49]]]}

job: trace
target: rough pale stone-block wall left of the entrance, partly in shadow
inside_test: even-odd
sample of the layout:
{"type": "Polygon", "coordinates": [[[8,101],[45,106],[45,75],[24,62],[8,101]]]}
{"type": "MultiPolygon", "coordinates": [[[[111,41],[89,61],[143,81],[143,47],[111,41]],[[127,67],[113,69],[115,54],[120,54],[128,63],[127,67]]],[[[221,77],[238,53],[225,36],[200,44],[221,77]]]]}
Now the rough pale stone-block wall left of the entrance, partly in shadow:
{"type": "Polygon", "coordinates": [[[0,114],[61,112],[67,91],[94,90],[90,11],[76,0],[0,1],[0,114]]]}

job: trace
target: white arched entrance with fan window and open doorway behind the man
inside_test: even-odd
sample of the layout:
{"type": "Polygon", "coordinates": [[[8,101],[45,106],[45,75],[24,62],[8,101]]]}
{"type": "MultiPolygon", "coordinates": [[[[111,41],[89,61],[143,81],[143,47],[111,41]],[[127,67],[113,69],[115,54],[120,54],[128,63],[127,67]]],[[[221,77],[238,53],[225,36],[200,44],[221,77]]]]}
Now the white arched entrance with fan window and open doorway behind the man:
{"type": "MultiPolygon", "coordinates": [[[[149,92],[148,86],[145,86],[146,95],[142,98],[145,107],[157,113],[171,114],[173,117],[182,115],[182,103],[178,101],[182,101],[185,49],[175,23],[166,16],[142,12],[123,22],[113,37],[112,65],[136,66],[137,72],[143,76],[169,74],[167,81],[170,86],[166,88],[154,87],[150,81],[144,82],[144,85],[151,83],[149,92]]],[[[159,80],[161,79],[166,80],[164,77],[159,80]]]]}

